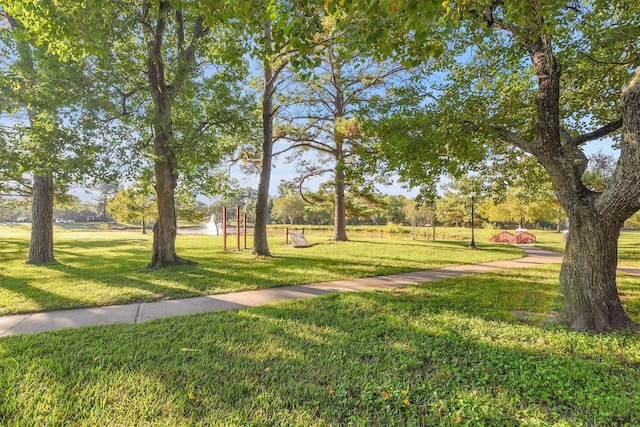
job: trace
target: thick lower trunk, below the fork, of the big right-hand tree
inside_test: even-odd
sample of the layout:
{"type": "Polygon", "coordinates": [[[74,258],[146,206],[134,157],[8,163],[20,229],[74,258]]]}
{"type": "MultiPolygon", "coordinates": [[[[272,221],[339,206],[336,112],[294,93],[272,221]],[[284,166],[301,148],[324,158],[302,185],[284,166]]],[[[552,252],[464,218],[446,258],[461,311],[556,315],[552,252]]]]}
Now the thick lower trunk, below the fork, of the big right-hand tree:
{"type": "Polygon", "coordinates": [[[575,209],[569,217],[560,285],[564,307],[559,320],[578,330],[606,332],[633,325],[616,285],[621,223],[575,209]]]}

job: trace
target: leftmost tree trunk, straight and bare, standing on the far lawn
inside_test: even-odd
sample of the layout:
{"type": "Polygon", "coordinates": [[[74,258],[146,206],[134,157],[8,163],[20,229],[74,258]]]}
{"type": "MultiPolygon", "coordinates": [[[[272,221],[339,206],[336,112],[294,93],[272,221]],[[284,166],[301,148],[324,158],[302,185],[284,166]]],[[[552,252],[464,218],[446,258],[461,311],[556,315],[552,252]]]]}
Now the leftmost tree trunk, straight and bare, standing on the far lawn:
{"type": "Polygon", "coordinates": [[[53,257],[53,178],[34,175],[31,206],[31,243],[28,264],[54,262],[53,257]]]}

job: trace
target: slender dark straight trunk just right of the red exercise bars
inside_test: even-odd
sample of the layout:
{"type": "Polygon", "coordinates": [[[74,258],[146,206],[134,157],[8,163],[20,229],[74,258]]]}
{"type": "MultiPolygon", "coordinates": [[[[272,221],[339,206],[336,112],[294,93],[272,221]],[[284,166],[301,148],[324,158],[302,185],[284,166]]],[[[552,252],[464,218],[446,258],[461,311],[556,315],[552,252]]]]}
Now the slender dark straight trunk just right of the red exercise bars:
{"type": "MultiPolygon", "coordinates": [[[[265,23],[265,38],[270,43],[271,28],[265,23]]],[[[271,182],[271,161],[273,155],[273,70],[264,66],[264,93],[262,94],[262,163],[258,199],[256,200],[256,222],[253,226],[253,253],[271,256],[267,240],[267,215],[269,204],[269,185],[271,182]]]]}

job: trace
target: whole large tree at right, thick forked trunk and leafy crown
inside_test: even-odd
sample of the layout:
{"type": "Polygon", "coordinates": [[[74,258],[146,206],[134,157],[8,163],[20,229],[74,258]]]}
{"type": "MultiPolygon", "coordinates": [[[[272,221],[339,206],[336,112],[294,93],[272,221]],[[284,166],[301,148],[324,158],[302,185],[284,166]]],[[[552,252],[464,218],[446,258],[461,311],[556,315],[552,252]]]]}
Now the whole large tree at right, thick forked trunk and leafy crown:
{"type": "Polygon", "coordinates": [[[549,174],[570,222],[559,321],[597,332],[635,327],[618,296],[616,267],[620,229],[640,208],[637,3],[356,0],[346,7],[372,17],[360,46],[408,62],[439,58],[430,123],[446,139],[434,145],[511,147],[549,174]],[[583,181],[583,149],[605,136],[620,156],[597,191],[583,181]]]}

